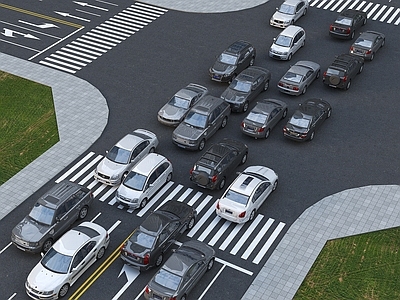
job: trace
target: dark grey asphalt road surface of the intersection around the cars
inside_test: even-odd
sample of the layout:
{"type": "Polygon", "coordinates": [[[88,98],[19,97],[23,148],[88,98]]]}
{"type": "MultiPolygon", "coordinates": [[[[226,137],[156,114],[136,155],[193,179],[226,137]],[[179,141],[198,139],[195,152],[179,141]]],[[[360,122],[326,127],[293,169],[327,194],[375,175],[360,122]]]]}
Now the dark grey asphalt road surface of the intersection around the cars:
{"type": "MultiPolygon", "coordinates": [[[[212,82],[208,77],[208,67],[226,46],[237,39],[250,41],[257,49],[255,65],[271,70],[270,88],[258,99],[276,98],[285,101],[289,106],[289,116],[298,103],[307,98],[322,97],[332,105],[332,117],[325,122],[316,133],[314,140],[309,143],[296,143],[284,139],[281,128],[285,121],[278,124],[268,140],[254,140],[243,136],[239,129],[240,122],[244,118],[243,114],[232,114],[228,126],[220,130],[208,142],[209,146],[224,137],[245,141],[250,149],[249,159],[238,170],[249,165],[261,164],[274,169],[279,174],[278,190],[263,205],[259,214],[264,216],[264,223],[268,218],[272,218],[275,224],[282,222],[285,226],[258,264],[242,259],[243,250],[237,255],[220,250],[221,243],[230,231],[225,232],[215,246],[220,261],[204,277],[201,284],[196,286],[190,299],[198,299],[205,290],[207,293],[204,299],[239,299],[290,224],[306,208],[321,198],[348,188],[370,184],[398,184],[397,162],[400,147],[397,114],[400,104],[396,88],[397,80],[394,76],[398,74],[399,68],[396,59],[399,56],[400,46],[398,27],[369,20],[363,30],[384,32],[387,36],[386,45],[378,52],[373,62],[366,63],[363,73],[357,76],[350,90],[328,88],[323,85],[320,78],[309,87],[306,95],[291,97],[279,93],[276,88],[279,78],[290,64],[298,60],[313,60],[318,62],[321,70],[324,71],[335,55],[348,51],[351,42],[329,37],[329,24],[337,13],[314,7],[310,8],[307,16],[297,23],[306,30],[305,47],[294,55],[291,62],[270,59],[267,49],[280,30],[270,27],[268,19],[278,3],[278,1],[271,1],[256,8],[224,14],[168,11],[76,73],[76,76],[87,80],[103,93],[110,109],[109,124],[104,134],[82,157],[89,152],[103,155],[105,150],[127,132],[135,128],[146,128],[158,135],[160,140],[158,152],[168,157],[173,163],[174,186],[180,184],[184,189],[192,188],[194,192],[199,190],[204,195],[211,195],[214,200],[221,195],[222,191],[200,190],[189,181],[189,170],[200,153],[185,151],[174,146],[171,141],[173,129],[159,124],[156,115],[158,109],[168,101],[169,97],[190,82],[205,85],[211,94],[219,96],[226,85],[212,82]],[[244,273],[238,267],[250,274],[244,273]]],[[[58,2],[54,5],[57,6],[58,2]]],[[[123,7],[122,4],[119,8],[121,7],[123,7]]],[[[37,11],[38,7],[26,7],[26,9],[37,11]]],[[[84,32],[92,28],[95,22],[102,22],[115,11],[118,9],[104,14],[96,21],[89,22],[90,24],[84,24],[79,20],[74,20],[74,22],[84,24],[85,28],[81,30],[84,32]]],[[[42,13],[51,15],[50,10],[44,10],[42,13]]],[[[63,32],[68,35],[75,29],[63,32]]],[[[74,35],[60,42],[55,49],[73,39],[74,35]]],[[[6,53],[11,51],[10,44],[1,43],[0,47],[0,50],[6,53]]],[[[32,57],[31,54],[27,54],[26,48],[18,49],[13,48],[12,53],[25,59],[32,57]]],[[[48,52],[31,60],[39,62],[46,55],[48,52]]],[[[254,103],[251,107],[253,105],[254,103]]],[[[82,122],[84,123],[85,120],[82,122]]],[[[59,176],[67,172],[75,163],[59,176]]],[[[86,172],[88,173],[89,171],[86,172]]],[[[70,177],[72,176],[73,174],[70,177]]],[[[230,178],[230,181],[233,179],[234,176],[230,178]]],[[[49,182],[32,198],[0,221],[0,226],[3,228],[0,233],[0,248],[9,243],[13,226],[27,214],[34,199],[53,184],[54,181],[49,182]]],[[[97,198],[105,192],[106,190],[97,198]]],[[[162,199],[163,197],[157,203],[160,203],[162,199]]],[[[116,205],[108,205],[108,201],[109,199],[104,202],[96,201],[88,219],[101,213],[96,222],[107,229],[115,222],[121,221],[111,233],[111,245],[107,252],[111,254],[143,218],[136,216],[137,212],[127,213],[126,210],[118,209],[116,205]]],[[[213,202],[210,201],[200,217],[212,205],[213,202]]],[[[211,240],[212,235],[222,226],[222,223],[219,222],[212,234],[206,237],[206,242],[211,240]]],[[[202,230],[205,230],[206,226],[207,223],[202,230]]],[[[229,228],[232,230],[232,226],[229,228]]],[[[271,228],[268,231],[263,239],[264,242],[272,230],[271,228]]],[[[200,234],[201,232],[197,233],[195,238],[198,238],[200,234]]],[[[250,245],[255,235],[256,233],[252,233],[248,236],[243,249],[250,245]]],[[[182,241],[187,238],[184,237],[182,241]]],[[[239,238],[239,236],[235,237],[235,242],[239,238]]],[[[260,248],[259,245],[256,251],[260,248]]],[[[253,257],[254,255],[251,256],[253,257]]],[[[0,254],[0,259],[1,272],[4,274],[0,283],[2,298],[11,297],[13,293],[17,293],[15,299],[25,299],[24,282],[29,271],[39,260],[39,256],[27,255],[14,247],[9,247],[0,254]]],[[[94,271],[98,265],[99,263],[90,271],[94,271]]],[[[134,276],[129,273],[131,271],[126,271],[129,273],[126,273],[128,278],[123,274],[119,277],[122,266],[122,262],[119,259],[116,260],[83,294],[82,299],[113,299],[124,288],[129,276],[134,276]]],[[[132,299],[140,295],[154,271],[140,274],[135,278],[120,299],[132,299]]],[[[69,295],[83,283],[89,273],[73,286],[69,295]]]]}

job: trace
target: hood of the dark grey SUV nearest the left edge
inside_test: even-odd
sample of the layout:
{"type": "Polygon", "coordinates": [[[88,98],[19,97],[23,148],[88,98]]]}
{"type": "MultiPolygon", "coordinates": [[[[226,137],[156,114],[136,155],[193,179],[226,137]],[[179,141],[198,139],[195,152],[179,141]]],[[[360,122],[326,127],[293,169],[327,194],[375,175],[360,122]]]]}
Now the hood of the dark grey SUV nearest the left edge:
{"type": "Polygon", "coordinates": [[[38,242],[49,230],[50,226],[36,222],[26,216],[14,227],[12,233],[26,242],[38,242]]]}

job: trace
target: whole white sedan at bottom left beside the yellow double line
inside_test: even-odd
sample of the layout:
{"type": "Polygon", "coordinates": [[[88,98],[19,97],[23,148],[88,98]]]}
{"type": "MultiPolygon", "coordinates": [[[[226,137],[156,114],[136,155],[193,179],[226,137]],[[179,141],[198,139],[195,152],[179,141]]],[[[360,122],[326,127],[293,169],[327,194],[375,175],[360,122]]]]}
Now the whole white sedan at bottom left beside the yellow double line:
{"type": "Polygon", "coordinates": [[[66,296],[80,276],[104,256],[109,243],[107,230],[92,222],[69,230],[29,273],[26,293],[37,300],[66,296]]]}

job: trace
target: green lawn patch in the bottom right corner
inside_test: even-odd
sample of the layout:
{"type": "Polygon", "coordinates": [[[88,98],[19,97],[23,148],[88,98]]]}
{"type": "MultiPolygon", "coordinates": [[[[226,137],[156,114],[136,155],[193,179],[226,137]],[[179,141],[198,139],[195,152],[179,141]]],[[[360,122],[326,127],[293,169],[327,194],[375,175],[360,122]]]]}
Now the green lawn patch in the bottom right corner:
{"type": "Polygon", "coordinates": [[[293,299],[400,299],[400,228],[328,241],[293,299]]]}

